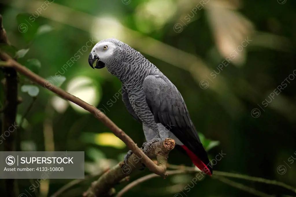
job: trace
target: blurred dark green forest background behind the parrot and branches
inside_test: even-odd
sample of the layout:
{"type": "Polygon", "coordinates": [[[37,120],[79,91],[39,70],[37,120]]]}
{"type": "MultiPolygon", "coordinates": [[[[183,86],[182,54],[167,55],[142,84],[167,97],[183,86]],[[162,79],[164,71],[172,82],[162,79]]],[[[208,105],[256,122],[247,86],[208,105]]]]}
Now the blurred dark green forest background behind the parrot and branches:
{"type": "MultiPolygon", "coordinates": [[[[197,130],[211,143],[220,141],[208,151],[210,157],[221,151],[226,154],[214,170],[296,187],[296,161],[291,157],[296,158],[296,2],[204,2],[202,7],[199,0],[0,0],[0,13],[11,44],[17,50],[29,49],[18,59],[20,63],[101,108],[138,145],[145,140],[142,126],[128,114],[121,95],[118,97],[120,81],[105,68],[93,70],[87,61],[94,44],[105,38],[114,36],[129,44],[176,85],[197,130]],[[251,40],[247,46],[242,43],[245,39],[251,40]],[[89,40],[94,44],[87,43],[89,40]],[[70,63],[70,58],[77,61],[66,70],[63,65],[70,63]],[[222,67],[226,58],[231,62],[222,67]],[[217,73],[215,78],[213,72],[217,73]],[[275,90],[279,85],[284,88],[281,92],[275,90]]],[[[3,73],[0,76],[3,79],[3,73]]],[[[18,106],[17,125],[23,121],[16,131],[17,150],[85,151],[86,174],[122,161],[128,148],[90,113],[23,76],[19,81],[23,102],[18,106]],[[22,89],[23,85],[30,85],[25,87],[33,95],[22,89]],[[39,93],[34,97],[36,87],[39,93]]],[[[0,99],[3,106],[3,84],[0,99]]],[[[176,150],[170,153],[169,163],[192,166],[176,150]]],[[[144,174],[149,170],[131,180],[144,174]]],[[[252,196],[210,177],[182,193],[193,177],[180,174],[165,180],[154,178],[125,196],[252,196]]],[[[266,194],[295,196],[277,186],[231,180],[266,194]]],[[[20,193],[28,190],[32,196],[45,197],[69,181],[17,183],[20,193]],[[29,190],[32,183],[38,187],[34,192],[29,190]]],[[[81,196],[90,182],[76,185],[61,196],[81,196]]],[[[4,181],[0,183],[0,196],[4,196],[4,181]]],[[[116,190],[124,185],[118,185],[116,190]]]]}

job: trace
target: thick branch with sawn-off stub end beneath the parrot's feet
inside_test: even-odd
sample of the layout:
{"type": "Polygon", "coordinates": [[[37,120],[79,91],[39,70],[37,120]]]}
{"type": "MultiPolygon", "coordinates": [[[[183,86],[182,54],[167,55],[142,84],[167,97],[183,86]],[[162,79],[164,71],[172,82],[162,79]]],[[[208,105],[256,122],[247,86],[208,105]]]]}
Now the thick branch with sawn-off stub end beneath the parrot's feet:
{"type": "MultiPolygon", "coordinates": [[[[166,171],[168,153],[174,147],[175,141],[167,138],[163,141],[153,143],[150,146],[147,156],[149,156],[149,158],[156,158],[157,165],[166,171]]],[[[97,181],[91,184],[91,187],[85,193],[83,193],[83,196],[112,196],[115,193],[115,189],[113,187],[119,184],[122,179],[128,177],[131,173],[135,172],[141,167],[143,167],[141,164],[141,158],[137,157],[135,154],[132,154],[128,159],[128,164],[120,162],[112,169],[105,172],[97,181]]]]}

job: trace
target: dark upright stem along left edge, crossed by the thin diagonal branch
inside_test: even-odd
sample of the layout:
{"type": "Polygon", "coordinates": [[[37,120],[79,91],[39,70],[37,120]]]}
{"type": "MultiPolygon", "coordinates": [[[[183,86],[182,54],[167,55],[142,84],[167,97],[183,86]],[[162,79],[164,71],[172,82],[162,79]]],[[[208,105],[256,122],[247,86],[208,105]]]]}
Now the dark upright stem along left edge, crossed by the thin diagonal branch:
{"type": "MultiPolygon", "coordinates": [[[[3,18],[0,15],[0,43],[10,45],[7,39],[6,31],[2,24],[3,18]]],[[[4,151],[16,151],[16,135],[17,131],[10,128],[15,125],[15,118],[17,114],[17,72],[14,68],[4,68],[5,76],[4,83],[4,109],[3,109],[3,122],[2,122],[2,139],[4,143],[4,151]]],[[[2,141],[2,140],[1,140],[2,141]]],[[[7,197],[17,196],[17,182],[15,179],[6,179],[5,188],[7,197]]]]}

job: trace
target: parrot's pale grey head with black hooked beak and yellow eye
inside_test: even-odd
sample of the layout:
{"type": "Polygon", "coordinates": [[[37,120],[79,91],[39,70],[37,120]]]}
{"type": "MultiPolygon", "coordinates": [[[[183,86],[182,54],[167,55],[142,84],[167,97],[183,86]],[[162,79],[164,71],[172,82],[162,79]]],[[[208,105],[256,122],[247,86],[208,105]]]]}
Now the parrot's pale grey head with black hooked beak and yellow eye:
{"type": "Polygon", "coordinates": [[[91,68],[104,68],[106,66],[108,71],[116,72],[116,67],[120,65],[125,55],[124,45],[126,44],[114,38],[99,41],[91,49],[89,65],[91,68]],[[96,66],[94,67],[93,64],[96,60],[96,66]]]}

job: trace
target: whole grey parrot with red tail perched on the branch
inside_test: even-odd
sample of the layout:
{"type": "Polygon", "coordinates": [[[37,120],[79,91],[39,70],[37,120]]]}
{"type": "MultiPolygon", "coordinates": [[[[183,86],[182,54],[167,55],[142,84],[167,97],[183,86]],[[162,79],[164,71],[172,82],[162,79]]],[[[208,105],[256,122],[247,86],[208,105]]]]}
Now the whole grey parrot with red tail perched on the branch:
{"type": "Polygon", "coordinates": [[[195,166],[212,175],[213,167],[180,92],[154,64],[114,38],[98,42],[88,61],[92,68],[106,67],[121,81],[122,100],[133,118],[142,123],[146,147],[165,138],[174,139],[195,166]]]}

